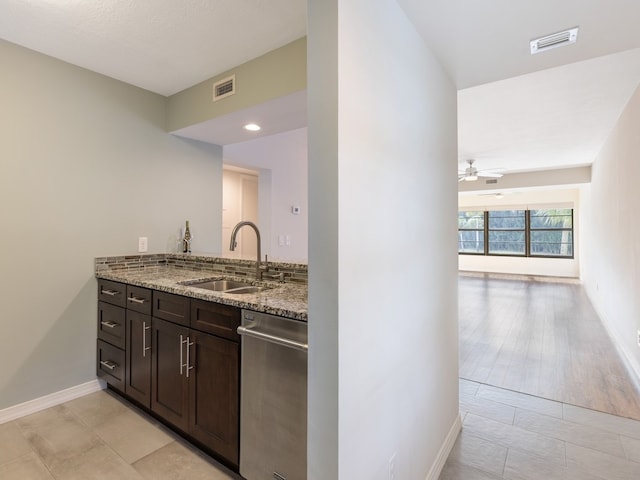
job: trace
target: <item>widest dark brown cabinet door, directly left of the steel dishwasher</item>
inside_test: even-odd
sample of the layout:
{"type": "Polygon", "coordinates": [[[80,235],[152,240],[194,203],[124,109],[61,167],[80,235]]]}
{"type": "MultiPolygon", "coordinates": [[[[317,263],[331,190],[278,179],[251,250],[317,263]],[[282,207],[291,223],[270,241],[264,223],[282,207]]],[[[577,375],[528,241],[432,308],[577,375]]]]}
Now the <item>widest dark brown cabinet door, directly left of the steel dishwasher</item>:
{"type": "Polygon", "coordinates": [[[191,332],[189,434],[237,468],[240,345],[191,332]]]}

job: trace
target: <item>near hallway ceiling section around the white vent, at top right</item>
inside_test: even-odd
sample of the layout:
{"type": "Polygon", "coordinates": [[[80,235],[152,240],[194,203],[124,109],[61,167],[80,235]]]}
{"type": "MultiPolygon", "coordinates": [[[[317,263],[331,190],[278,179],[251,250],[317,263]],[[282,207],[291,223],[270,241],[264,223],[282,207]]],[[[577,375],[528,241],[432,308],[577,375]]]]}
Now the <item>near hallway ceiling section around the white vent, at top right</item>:
{"type": "Polygon", "coordinates": [[[640,48],[638,0],[397,0],[459,89],[640,48]],[[580,27],[566,48],[529,41],[580,27]]]}

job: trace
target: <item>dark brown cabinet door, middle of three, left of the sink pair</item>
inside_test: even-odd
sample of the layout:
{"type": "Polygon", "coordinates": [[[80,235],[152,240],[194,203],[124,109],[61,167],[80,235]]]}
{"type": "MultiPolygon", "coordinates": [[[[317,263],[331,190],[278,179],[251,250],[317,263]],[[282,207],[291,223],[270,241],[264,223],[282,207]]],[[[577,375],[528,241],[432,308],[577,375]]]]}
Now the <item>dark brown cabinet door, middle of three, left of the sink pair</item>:
{"type": "Polygon", "coordinates": [[[154,317],[151,331],[151,410],[187,431],[189,329],[154,317]]]}

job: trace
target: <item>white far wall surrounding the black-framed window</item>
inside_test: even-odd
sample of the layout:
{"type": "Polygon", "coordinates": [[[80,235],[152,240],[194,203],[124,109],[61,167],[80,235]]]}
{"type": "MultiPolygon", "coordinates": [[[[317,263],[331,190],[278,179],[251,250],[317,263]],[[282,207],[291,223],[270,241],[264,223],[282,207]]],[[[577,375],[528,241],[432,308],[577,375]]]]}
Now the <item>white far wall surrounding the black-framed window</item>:
{"type": "MultiPolygon", "coordinates": [[[[547,172],[553,177],[553,172],[547,172]]],[[[464,182],[463,182],[464,183],[464,182]]],[[[458,196],[460,210],[488,210],[491,208],[544,208],[544,205],[573,206],[574,258],[519,258],[484,255],[458,255],[458,268],[470,272],[509,273],[519,275],[544,275],[551,277],[580,276],[580,190],[578,188],[537,188],[526,191],[513,190],[502,198],[494,195],[458,196]]]]}

